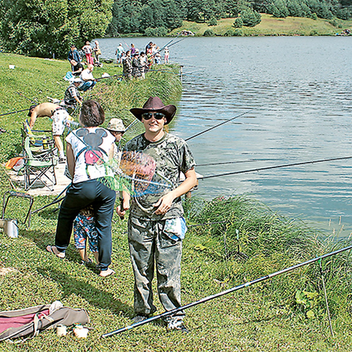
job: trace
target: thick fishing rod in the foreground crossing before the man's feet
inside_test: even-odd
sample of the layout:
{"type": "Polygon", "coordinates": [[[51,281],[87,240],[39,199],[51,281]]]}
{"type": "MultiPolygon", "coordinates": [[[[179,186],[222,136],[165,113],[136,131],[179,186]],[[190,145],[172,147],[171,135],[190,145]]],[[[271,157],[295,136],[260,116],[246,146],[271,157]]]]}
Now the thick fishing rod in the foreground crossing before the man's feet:
{"type": "Polygon", "coordinates": [[[272,274],[268,274],[268,275],[265,275],[265,276],[262,276],[260,278],[257,278],[253,281],[250,281],[250,282],[246,282],[244,284],[241,284],[241,285],[238,285],[238,286],[235,286],[233,288],[230,288],[228,290],[225,290],[225,291],[221,291],[219,293],[216,293],[214,295],[211,295],[211,296],[207,296],[207,297],[204,297],[204,298],[201,298],[200,300],[198,301],[195,301],[195,302],[192,302],[192,303],[188,303],[186,304],[185,306],[182,306],[182,307],[178,307],[178,308],[174,308],[174,309],[171,309],[169,310],[168,312],[164,312],[162,314],[158,314],[158,315],[155,315],[155,316],[151,316],[150,318],[147,318],[143,321],[140,321],[138,323],[134,323],[132,325],[129,325],[129,326],[126,326],[124,328],[120,328],[120,329],[117,329],[117,330],[114,330],[112,332],[109,332],[109,333],[106,333],[106,334],[103,334],[101,335],[102,338],[106,338],[106,337],[109,337],[109,336],[112,336],[114,334],[119,334],[121,332],[125,332],[125,331],[128,331],[128,330],[131,330],[133,328],[136,328],[136,327],[139,327],[141,325],[144,325],[144,324],[147,324],[151,321],[154,321],[154,320],[157,320],[157,319],[160,319],[160,318],[164,318],[166,316],[170,316],[170,315],[173,315],[177,312],[180,312],[181,310],[184,310],[184,309],[188,309],[188,308],[191,308],[191,307],[194,307],[194,306],[197,306],[198,304],[201,304],[201,303],[205,303],[205,302],[208,302],[210,300],[213,300],[214,298],[218,298],[218,297],[221,297],[221,296],[224,296],[224,295],[227,295],[229,293],[232,293],[234,291],[238,291],[240,289],[243,289],[245,287],[248,287],[252,284],[256,284],[258,282],[261,282],[261,281],[264,281],[264,280],[267,280],[267,279],[270,279],[274,276],[278,276],[278,275],[281,275],[281,274],[284,274],[286,272],[289,272],[289,271],[292,271],[292,270],[295,270],[297,268],[300,268],[301,266],[304,266],[304,265],[308,265],[308,264],[311,264],[311,263],[314,263],[318,260],[321,260],[323,258],[327,258],[327,257],[331,257],[335,254],[338,254],[338,253],[341,253],[341,252],[344,252],[344,251],[347,251],[347,250],[350,250],[352,249],[352,246],[348,246],[348,247],[345,247],[345,248],[341,248],[337,251],[334,251],[334,252],[330,252],[330,253],[327,253],[327,254],[324,254],[320,257],[315,257],[313,259],[310,259],[310,260],[307,260],[306,262],[302,262],[302,263],[299,263],[299,264],[296,264],[296,265],[293,265],[293,266],[290,266],[289,268],[286,268],[286,269],[282,269],[282,270],[279,270],[279,271],[276,271],[276,272],[273,272],[272,274]]]}

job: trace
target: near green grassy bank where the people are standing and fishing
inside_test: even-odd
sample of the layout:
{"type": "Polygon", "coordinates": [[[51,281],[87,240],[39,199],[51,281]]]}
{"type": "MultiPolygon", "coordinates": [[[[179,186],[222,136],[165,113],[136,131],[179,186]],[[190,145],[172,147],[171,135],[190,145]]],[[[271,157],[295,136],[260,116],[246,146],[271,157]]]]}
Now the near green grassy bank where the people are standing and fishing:
{"type": "MultiPolygon", "coordinates": [[[[46,96],[62,97],[67,70],[67,62],[1,55],[1,113],[28,107],[30,101],[23,95],[40,102],[46,96]],[[15,69],[8,69],[8,64],[15,69]]],[[[115,74],[120,68],[105,65],[94,74],[98,77],[104,71],[115,74]]],[[[180,89],[177,75],[157,71],[145,81],[98,83],[90,96],[102,102],[109,116],[122,117],[128,124],[129,108],[142,105],[149,95],[175,102],[180,89]]],[[[2,117],[0,127],[7,132],[0,135],[1,163],[20,149],[25,118],[26,112],[2,117]]],[[[50,126],[44,119],[37,123],[50,126]]],[[[2,166],[0,181],[2,195],[11,187],[2,166]]],[[[38,196],[33,208],[51,199],[38,196]]],[[[210,202],[193,197],[185,207],[189,225],[181,273],[185,304],[346,245],[334,244],[331,238],[320,241],[319,234],[304,224],[284,219],[243,196],[210,202]],[[203,225],[191,226],[197,224],[203,225]]],[[[21,218],[26,204],[12,204],[9,209],[14,218],[21,218]]],[[[85,308],[94,330],[84,340],[71,333],[58,338],[55,331],[46,331],[20,345],[0,342],[1,351],[351,351],[352,266],[347,252],[322,263],[334,338],[329,334],[319,268],[310,265],[189,309],[187,335],[167,333],[157,321],[101,339],[102,333],[130,325],[133,317],[127,220],[114,214],[111,267],[117,274],[102,279],[94,268],[78,264],[72,243],[64,260],[45,251],[54,241],[57,212],[53,210],[55,206],[33,215],[31,227],[20,226],[17,239],[0,231],[0,310],[60,300],[69,307],[85,308]]],[[[162,313],[157,296],[155,303],[162,313]]]]}

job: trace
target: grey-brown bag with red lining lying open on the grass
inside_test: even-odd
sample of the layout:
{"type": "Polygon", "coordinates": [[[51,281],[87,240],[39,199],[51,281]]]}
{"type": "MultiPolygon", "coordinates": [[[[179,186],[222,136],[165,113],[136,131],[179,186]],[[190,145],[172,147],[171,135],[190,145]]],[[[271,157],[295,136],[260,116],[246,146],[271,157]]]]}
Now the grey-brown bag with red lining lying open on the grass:
{"type": "Polygon", "coordinates": [[[86,310],[63,307],[59,301],[25,309],[4,310],[0,312],[0,341],[32,338],[58,324],[70,326],[74,323],[89,323],[86,310]]]}

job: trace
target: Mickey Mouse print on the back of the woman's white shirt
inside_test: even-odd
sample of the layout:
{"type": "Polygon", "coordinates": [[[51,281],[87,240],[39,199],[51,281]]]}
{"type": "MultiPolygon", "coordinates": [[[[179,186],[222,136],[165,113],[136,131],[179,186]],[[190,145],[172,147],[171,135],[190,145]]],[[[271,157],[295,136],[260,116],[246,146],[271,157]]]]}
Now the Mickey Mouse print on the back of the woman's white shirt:
{"type": "Polygon", "coordinates": [[[94,132],[89,132],[87,128],[80,128],[76,134],[78,137],[81,137],[84,144],[86,144],[79,154],[85,151],[84,162],[86,163],[86,172],[88,178],[91,178],[90,174],[96,169],[96,166],[104,163],[103,153],[107,155],[105,150],[100,148],[100,145],[103,143],[103,138],[107,136],[107,132],[103,130],[103,128],[97,128],[94,132]]]}

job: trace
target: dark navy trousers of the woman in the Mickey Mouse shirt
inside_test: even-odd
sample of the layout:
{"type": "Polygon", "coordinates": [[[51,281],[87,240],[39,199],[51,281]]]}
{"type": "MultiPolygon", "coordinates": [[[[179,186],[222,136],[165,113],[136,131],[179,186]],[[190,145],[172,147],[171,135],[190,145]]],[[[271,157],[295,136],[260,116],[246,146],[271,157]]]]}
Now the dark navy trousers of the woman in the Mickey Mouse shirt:
{"type": "Polygon", "coordinates": [[[67,249],[73,221],[81,209],[93,205],[96,231],[98,233],[99,263],[101,270],[111,264],[111,220],[114,212],[115,191],[98,180],[73,183],[66,191],[57,220],[55,246],[58,251],[67,249]]]}

